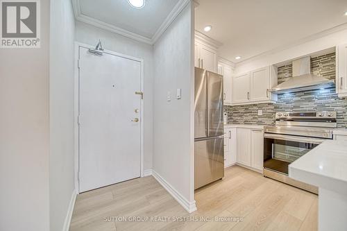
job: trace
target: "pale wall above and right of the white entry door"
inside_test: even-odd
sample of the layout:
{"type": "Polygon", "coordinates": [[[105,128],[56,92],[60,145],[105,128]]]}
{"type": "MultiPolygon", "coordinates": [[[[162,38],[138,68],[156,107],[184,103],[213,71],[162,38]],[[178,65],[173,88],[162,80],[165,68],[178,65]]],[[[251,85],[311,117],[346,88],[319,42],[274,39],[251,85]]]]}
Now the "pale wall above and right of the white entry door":
{"type": "Polygon", "coordinates": [[[144,170],[152,169],[153,154],[153,46],[131,40],[76,22],[76,41],[95,46],[101,40],[103,48],[144,60],[144,170]]]}

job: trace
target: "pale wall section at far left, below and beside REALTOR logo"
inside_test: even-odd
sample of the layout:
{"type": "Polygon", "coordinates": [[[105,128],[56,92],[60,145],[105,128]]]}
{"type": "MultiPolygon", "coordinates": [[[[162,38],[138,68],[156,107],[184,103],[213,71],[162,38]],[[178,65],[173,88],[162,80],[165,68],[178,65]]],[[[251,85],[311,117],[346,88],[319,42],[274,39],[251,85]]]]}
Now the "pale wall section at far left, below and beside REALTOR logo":
{"type": "Polygon", "coordinates": [[[0,230],[49,230],[49,1],[40,49],[0,49],[0,230]]]}

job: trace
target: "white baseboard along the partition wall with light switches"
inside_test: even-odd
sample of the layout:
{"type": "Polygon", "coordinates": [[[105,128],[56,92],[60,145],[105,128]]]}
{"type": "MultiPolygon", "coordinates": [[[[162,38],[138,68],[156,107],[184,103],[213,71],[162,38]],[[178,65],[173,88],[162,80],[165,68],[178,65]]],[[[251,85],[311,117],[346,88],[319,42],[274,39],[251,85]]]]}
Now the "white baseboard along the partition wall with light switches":
{"type": "Polygon", "coordinates": [[[152,170],[152,175],[155,178],[155,180],[157,180],[160,183],[160,185],[162,185],[162,187],[164,187],[164,189],[166,189],[169,192],[169,194],[171,194],[171,196],[173,196],[175,200],[177,200],[177,202],[180,203],[180,205],[182,205],[182,207],[184,207],[187,210],[187,212],[192,213],[196,211],[195,200],[194,202],[189,202],[189,200],[182,196],[174,187],[172,187],[169,184],[169,182],[164,180],[164,178],[162,178],[162,176],[160,176],[156,171],[152,170]]]}

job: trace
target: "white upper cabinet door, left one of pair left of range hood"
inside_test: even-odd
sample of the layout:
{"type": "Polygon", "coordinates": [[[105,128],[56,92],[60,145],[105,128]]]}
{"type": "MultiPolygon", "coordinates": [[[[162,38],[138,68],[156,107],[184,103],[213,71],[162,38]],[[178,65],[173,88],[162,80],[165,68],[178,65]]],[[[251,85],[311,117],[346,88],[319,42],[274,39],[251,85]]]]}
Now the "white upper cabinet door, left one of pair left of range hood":
{"type": "Polygon", "coordinates": [[[250,73],[232,78],[232,103],[247,103],[251,99],[250,73]]]}

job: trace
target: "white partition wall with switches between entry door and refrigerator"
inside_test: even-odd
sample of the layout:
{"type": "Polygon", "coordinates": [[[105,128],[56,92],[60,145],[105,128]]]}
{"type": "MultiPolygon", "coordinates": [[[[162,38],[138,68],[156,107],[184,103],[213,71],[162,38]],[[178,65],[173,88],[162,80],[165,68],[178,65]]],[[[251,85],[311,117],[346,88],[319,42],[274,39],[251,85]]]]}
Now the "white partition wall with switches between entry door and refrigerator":
{"type": "Polygon", "coordinates": [[[190,3],[154,44],[153,170],[194,203],[194,10],[190,3]],[[182,99],[176,99],[176,89],[182,99]],[[171,101],[167,101],[171,92],[171,101]]]}

